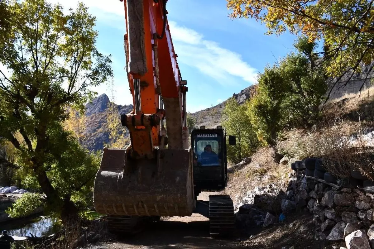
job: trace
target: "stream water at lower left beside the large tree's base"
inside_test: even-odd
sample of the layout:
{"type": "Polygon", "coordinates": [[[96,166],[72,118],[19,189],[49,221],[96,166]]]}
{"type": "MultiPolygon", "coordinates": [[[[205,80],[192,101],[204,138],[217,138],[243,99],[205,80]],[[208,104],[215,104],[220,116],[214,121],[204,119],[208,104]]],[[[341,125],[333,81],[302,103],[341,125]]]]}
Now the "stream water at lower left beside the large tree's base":
{"type": "Polygon", "coordinates": [[[0,224],[0,230],[7,230],[11,236],[45,236],[55,233],[57,226],[52,218],[43,219],[36,216],[32,219],[17,219],[11,222],[0,224]]]}

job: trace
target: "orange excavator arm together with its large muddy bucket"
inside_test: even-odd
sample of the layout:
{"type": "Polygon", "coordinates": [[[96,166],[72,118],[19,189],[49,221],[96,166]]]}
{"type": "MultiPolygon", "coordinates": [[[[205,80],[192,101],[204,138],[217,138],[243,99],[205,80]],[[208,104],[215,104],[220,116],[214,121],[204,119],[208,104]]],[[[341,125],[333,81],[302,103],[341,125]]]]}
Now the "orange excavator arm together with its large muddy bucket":
{"type": "Polygon", "coordinates": [[[104,148],[93,190],[96,211],[108,216],[115,231],[131,230],[132,217],[190,216],[196,204],[187,87],[166,18],[167,0],[121,1],[134,110],[122,114],[120,121],[129,130],[131,144],[104,148]]]}

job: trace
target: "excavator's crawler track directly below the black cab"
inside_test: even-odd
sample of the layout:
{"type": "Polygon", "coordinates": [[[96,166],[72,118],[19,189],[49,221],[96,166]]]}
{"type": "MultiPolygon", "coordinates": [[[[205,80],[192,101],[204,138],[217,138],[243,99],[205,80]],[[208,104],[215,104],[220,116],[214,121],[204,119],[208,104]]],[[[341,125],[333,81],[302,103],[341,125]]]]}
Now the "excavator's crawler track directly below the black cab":
{"type": "Polygon", "coordinates": [[[209,232],[211,236],[230,236],[235,230],[233,201],[228,195],[209,196],[209,232]]]}

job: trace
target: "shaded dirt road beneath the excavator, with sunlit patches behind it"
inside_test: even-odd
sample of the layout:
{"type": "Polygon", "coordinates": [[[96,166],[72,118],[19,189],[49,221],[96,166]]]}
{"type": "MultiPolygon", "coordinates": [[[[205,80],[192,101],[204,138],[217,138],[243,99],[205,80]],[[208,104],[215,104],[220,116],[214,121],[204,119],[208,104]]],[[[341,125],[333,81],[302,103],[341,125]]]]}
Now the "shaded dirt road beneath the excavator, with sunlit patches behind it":
{"type": "MultiPolygon", "coordinates": [[[[209,194],[201,193],[199,200],[209,200],[209,194]]],[[[86,249],[131,248],[241,248],[237,238],[224,240],[209,236],[209,220],[202,215],[170,217],[154,223],[147,230],[130,238],[117,238],[116,242],[98,243],[86,249]]]]}

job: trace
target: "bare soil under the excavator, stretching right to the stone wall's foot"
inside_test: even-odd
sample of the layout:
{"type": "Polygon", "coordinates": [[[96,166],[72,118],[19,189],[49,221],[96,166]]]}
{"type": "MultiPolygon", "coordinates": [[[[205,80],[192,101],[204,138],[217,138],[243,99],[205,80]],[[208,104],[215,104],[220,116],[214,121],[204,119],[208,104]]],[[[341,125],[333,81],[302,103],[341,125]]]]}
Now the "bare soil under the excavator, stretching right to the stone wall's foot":
{"type": "MultiPolygon", "coordinates": [[[[209,194],[201,193],[198,199],[207,200],[209,194]]],[[[84,249],[161,249],[161,248],[252,248],[287,249],[298,248],[331,249],[332,246],[345,246],[344,242],[317,241],[314,239],[315,225],[311,213],[294,213],[284,222],[267,229],[252,228],[239,230],[230,239],[212,238],[209,235],[207,218],[193,214],[190,217],[162,218],[145,231],[129,239],[116,237],[107,242],[95,243],[84,249]],[[301,227],[306,230],[300,231],[301,227]]]]}

